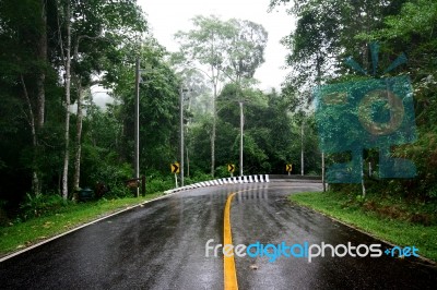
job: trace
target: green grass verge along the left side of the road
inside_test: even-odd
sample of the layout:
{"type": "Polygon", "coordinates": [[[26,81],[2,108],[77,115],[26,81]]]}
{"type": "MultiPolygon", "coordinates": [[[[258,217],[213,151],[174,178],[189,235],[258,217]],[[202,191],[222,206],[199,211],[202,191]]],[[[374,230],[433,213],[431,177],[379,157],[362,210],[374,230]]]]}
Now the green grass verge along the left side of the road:
{"type": "Polygon", "coordinates": [[[160,195],[162,193],[147,194],[145,197],[138,198],[103,198],[96,202],[71,204],[61,213],[55,215],[47,215],[23,222],[11,223],[8,227],[0,227],[0,256],[160,195]]]}

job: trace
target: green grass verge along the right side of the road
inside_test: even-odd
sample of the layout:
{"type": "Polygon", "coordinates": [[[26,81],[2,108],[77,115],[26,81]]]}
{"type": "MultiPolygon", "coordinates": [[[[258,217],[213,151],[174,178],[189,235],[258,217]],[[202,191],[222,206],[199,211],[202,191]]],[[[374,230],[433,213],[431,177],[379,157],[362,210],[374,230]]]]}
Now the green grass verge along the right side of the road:
{"type": "Polygon", "coordinates": [[[415,245],[422,256],[437,262],[437,225],[429,221],[433,219],[426,212],[417,213],[420,209],[415,204],[398,201],[390,207],[390,198],[370,195],[363,200],[336,192],[298,193],[291,195],[290,200],[395,245],[415,245]],[[392,214],[399,210],[404,214],[392,214]],[[415,216],[425,216],[425,222],[413,222],[415,216]]]}

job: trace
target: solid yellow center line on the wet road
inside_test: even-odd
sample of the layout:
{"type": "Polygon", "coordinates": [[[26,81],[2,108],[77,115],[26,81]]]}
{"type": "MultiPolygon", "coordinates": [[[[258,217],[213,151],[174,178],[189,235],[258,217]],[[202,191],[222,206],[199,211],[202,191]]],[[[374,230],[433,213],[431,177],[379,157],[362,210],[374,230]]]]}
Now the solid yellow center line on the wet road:
{"type": "MultiPolygon", "coordinates": [[[[232,243],[232,232],[231,232],[231,203],[236,192],[227,196],[225,205],[225,216],[224,216],[224,227],[223,227],[223,246],[232,243]]],[[[234,249],[232,250],[232,255],[223,255],[224,259],[224,289],[225,290],[237,290],[237,271],[235,269],[234,259],[234,249]]]]}

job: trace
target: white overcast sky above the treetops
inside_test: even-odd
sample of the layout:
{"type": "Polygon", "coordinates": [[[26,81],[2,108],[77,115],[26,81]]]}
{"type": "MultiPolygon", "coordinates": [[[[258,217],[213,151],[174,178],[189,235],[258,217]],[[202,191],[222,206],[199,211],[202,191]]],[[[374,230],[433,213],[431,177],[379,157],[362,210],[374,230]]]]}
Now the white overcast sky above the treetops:
{"type": "Polygon", "coordinates": [[[269,33],[269,41],[264,51],[265,62],[257,70],[255,77],[261,82],[260,88],[280,88],[286,71],[286,49],[280,39],[294,29],[294,20],[285,13],[285,8],[268,13],[270,0],[138,0],[147,14],[153,35],[169,51],[177,51],[174,40],[177,31],[191,28],[190,19],[194,15],[221,16],[222,20],[241,19],[259,23],[269,33]]]}

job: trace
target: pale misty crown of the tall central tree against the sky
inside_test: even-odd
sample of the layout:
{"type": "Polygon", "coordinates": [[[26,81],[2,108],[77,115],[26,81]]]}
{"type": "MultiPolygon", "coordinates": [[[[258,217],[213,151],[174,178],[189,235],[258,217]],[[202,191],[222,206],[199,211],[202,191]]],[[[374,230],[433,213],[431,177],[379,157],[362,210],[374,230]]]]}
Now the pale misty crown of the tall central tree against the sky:
{"type": "Polygon", "coordinates": [[[236,19],[222,21],[215,15],[198,15],[192,23],[194,29],[175,35],[181,44],[178,56],[187,56],[187,62],[209,65],[214,85],[226,78],[250,80],[264,62],[268,33],[260,24],[236,19]]]}

